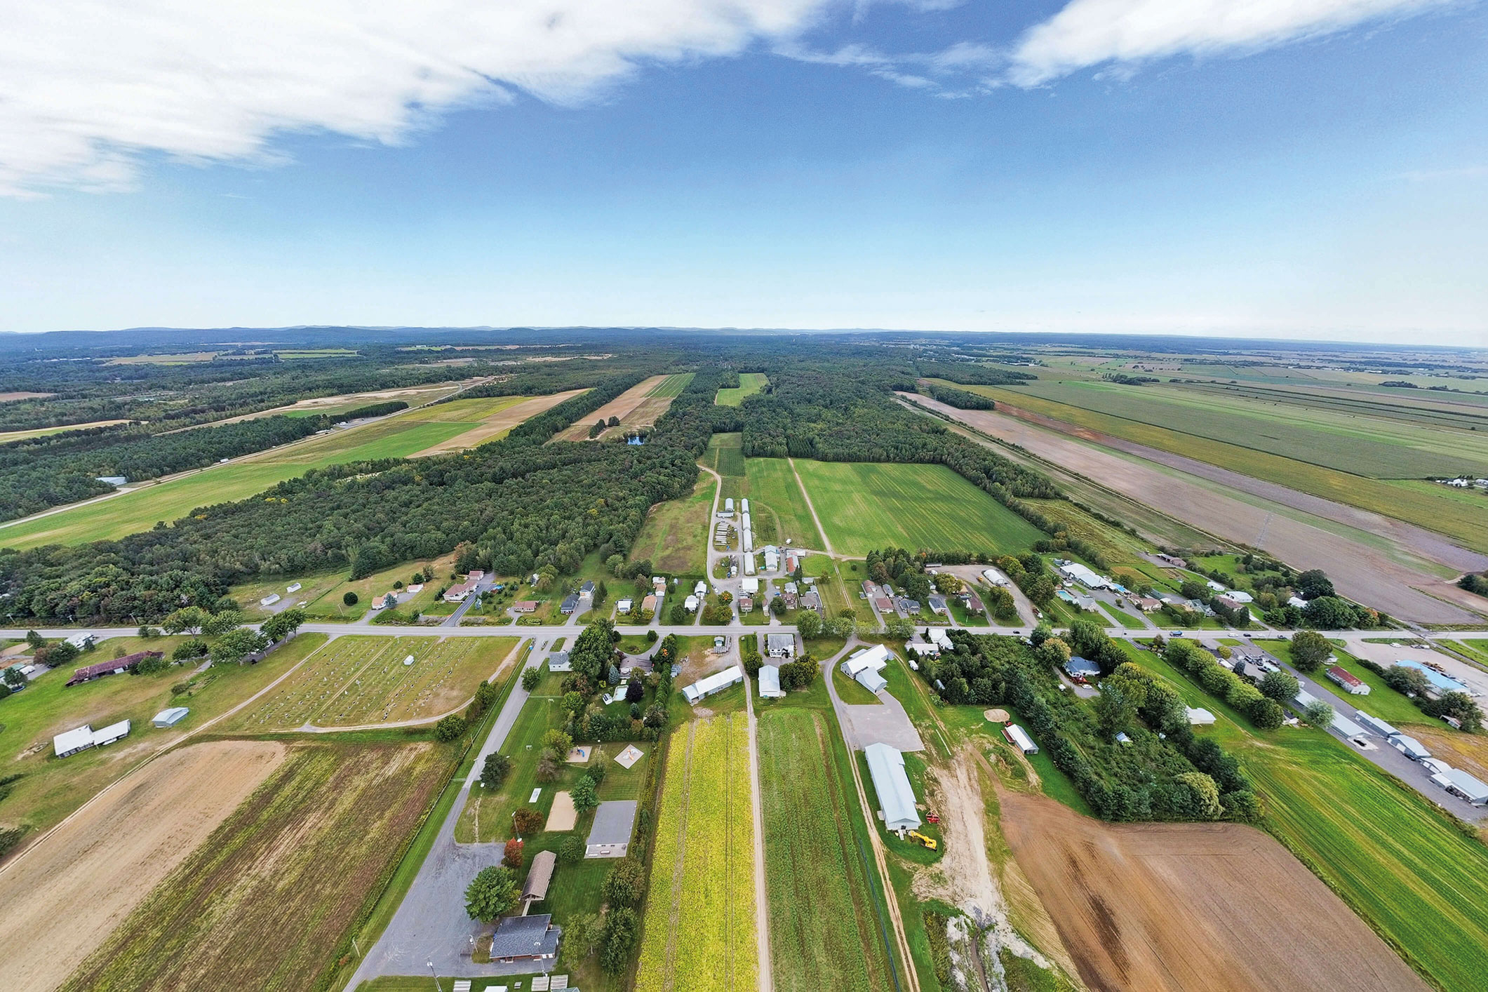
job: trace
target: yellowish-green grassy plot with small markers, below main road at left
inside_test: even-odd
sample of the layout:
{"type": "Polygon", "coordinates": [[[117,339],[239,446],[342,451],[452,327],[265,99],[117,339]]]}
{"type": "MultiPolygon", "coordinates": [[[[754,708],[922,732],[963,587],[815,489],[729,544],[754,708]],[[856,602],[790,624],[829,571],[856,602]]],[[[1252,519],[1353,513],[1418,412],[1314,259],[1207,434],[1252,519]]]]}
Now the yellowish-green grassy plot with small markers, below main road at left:
{"type": "Polygon", "coordinates": [[[232,726],[272,732],[432,720],[464,705],[513,647],[516,638],[341,637],[232,726]]]}

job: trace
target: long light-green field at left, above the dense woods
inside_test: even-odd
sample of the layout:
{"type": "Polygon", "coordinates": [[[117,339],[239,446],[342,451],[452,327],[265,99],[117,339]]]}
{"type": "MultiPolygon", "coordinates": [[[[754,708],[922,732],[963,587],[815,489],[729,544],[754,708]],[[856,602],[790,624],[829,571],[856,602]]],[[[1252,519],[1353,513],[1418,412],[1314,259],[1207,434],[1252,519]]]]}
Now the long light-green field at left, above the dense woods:
{"type": "Polygon", "coordinates": [[[363,427],[310,437],[226,466],[213,466],[147,485],[134,492],[0,526],[0,546],[25,549],[40,544],[118,540],[126,534],[147,531],[156,521],[176,521],[198,507],[263,492],[311,468],[414,455],[478,427],[487,416],[525,399],[531,397],[454,400],[363,427]]]}

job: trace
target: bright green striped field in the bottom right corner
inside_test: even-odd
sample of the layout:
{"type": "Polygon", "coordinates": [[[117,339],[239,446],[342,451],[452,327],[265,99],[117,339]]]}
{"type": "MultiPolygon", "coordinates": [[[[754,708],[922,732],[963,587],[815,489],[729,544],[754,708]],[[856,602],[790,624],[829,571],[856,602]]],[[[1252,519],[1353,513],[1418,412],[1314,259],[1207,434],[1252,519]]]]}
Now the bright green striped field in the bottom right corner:
{"type": "Polygon", "coordinates": [[[1482,989],[1488,848],[1332,738],[1284,739],[1238,756],[1272,833],[1434,985],[1482,989]]]}

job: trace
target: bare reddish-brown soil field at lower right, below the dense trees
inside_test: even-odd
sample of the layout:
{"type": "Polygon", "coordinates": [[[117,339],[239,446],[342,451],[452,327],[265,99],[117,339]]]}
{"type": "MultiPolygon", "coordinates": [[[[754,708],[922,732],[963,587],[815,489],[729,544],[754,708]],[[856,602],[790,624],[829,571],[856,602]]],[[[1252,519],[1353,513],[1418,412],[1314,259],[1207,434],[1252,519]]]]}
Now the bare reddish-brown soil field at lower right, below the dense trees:
{"type": "Polygon", "coordinates": [[[1259,830],[1103,824],[1021,793],[1001,808],[1013,857],[1091,989],[1427,988],[1259,830]]]}

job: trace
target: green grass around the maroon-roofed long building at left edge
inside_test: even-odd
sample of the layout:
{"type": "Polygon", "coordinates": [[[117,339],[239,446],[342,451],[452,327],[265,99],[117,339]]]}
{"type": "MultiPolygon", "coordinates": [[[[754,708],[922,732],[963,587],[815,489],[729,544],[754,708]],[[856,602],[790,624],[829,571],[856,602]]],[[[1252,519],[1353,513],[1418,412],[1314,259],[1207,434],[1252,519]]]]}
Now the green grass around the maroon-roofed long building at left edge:
{"type": "Polygon", "coordinates": [[[238,705],[326,642],[324,634],[301,634],[257,665],[222,665],[192,675],[195,663],[170,665],[155,675],[110,675],[80,686],[65,686],[74,668],[107,660],[115,647],[126,653],[162,651],[185,638],[110,638],[73,665],[52,669],[19,693],[0,700],[0,764],[4,775],[21,775],[0,805],[0,822],[28,824],[33,836],[77,809],[104,785],[118,779],[159,747],[238,705]],[[176,695],[174,686],[189,683],[176,695]],[[150,717],[167,706],[186,706],[190,714],[171,729],[150,726],[150,717]],[[119,720],[131,721],[125,741],[92,748],[65,760],[52,757],[52,738],[62,730],[91,724],[95,729],[119,720]]]}

